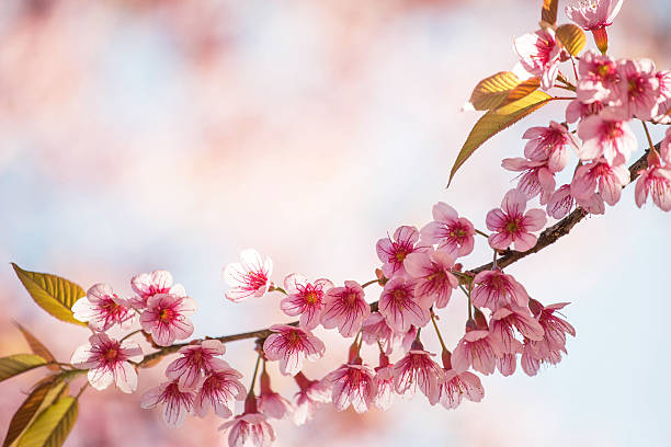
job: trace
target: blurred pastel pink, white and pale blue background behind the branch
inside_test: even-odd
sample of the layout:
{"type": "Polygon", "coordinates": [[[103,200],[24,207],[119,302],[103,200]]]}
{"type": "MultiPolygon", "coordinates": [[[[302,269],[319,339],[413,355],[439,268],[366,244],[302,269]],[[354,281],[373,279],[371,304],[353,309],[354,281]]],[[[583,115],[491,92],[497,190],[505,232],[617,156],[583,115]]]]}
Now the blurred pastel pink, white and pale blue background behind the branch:
{"type": "MultiPolygon", "coordinates": [[[[378,264],[375,241],[427,224],[437,200],[485,227],[514,185],[500,159],[562,111],[498,136],[445,190],[477,119],[459,110],[479,79],[512,68],[512,38],[536,28],[539,3],[1,1],[0,355],[27,351],[11,320],[64,360],[88,333],[37,308],[10,261],[121,295],[134,274],[169,270],[200,302],[195,335],[214,335],[289,320],[274,295],[224,300],[221,267],[243,248],[271,255],[278,282],[289,272],[363,282],[378,264]]],[[[625,1],[612,53],[671,68],[670,24],[668,0],[625,1]]],[[[510,268],[542,302],[572,302],[578,336],[559,366],[486,377],[485,401],[457,411],[418,397],[362,416],[328,409],[299,428],[274,423],[277,446],[669,445],[671,216],[637,209],[632,190],[510,268]]],[[[467,266],[490,259],[478,242],[467,266]]],[[[442,313],[452,345],[464,317],[455,295],[442,313]]],[[[344,342],[318,334],[329,351],[311,377],[345,355],[344,342]]],[[[251,342],[230,344],[227,358],[249,376],[251,342]]],[[[87,392],[66,445],[226,445],[215,417],[169,429],[139,409],[166,365],[144,371],[136,394],[87,392]]],[[[2,432],[36,377],[0,386],[2,432]]]]}

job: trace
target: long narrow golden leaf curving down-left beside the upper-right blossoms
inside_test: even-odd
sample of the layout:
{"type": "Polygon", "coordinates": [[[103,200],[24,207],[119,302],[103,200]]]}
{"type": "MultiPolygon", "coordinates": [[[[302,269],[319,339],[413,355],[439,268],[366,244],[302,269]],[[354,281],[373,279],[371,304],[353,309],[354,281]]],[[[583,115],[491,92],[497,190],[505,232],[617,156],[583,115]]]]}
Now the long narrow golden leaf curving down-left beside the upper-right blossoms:
{"type": "Polygon", "coordinates": [[[452,179],[457,170],[485,141],[504,128],[515,124],[523,117],[532,114],[551,100],[553,98],[549,94],[536,90],[521,100],[497,108],[496,111],[489,111],[482,115],[475,126],[473,126],[473,130],[470,130],[468,138],[466,138],[466,142],[454,161],[454,165],[450,172],[447,186],[452,183],[452,179]]]}

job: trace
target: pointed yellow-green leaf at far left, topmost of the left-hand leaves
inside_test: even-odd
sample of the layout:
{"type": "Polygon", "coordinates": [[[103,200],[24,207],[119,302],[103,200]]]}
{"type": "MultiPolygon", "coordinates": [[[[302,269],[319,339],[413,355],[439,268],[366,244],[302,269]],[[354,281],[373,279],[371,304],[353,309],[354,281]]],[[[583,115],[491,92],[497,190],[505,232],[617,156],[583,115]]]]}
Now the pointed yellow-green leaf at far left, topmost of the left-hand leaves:
{"type": "Polygon", "coordinates": [[[72,305],[87,295],[81,287],[60,276],[27,272],[14,263],[12,266],[25,289],[39,307],[59,320],[87,325],[87,323],[75,320],[71,310],[72,305]]]}

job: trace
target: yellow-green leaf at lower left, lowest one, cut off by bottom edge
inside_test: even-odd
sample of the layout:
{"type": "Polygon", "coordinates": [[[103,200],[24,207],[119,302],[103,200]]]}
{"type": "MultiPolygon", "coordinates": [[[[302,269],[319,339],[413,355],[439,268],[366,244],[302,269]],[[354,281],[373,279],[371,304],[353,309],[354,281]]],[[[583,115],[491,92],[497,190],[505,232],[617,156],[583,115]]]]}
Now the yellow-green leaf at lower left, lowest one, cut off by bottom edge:
{"type": "Polygon", "coordinates": [[[18,447],[59,447],[70,434],[79,405],[76,398],[60,398],[39,413],[19,439],[18,447]]]}

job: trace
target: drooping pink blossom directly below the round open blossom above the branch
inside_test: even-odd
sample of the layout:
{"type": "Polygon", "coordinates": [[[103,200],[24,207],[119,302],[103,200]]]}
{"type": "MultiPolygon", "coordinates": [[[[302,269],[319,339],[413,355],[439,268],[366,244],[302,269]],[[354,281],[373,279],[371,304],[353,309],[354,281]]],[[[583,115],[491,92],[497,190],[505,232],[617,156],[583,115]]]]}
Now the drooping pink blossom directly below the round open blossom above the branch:
{"type": "Polygon", "coordinates": [[[509,306],[521,308],[528,306],[528,294],[524,286],[512,275],[507,275],[498,268],[478,273],[473,284],[470,299],[478,308],[497,311],[509,306]]]}

